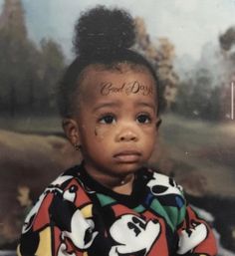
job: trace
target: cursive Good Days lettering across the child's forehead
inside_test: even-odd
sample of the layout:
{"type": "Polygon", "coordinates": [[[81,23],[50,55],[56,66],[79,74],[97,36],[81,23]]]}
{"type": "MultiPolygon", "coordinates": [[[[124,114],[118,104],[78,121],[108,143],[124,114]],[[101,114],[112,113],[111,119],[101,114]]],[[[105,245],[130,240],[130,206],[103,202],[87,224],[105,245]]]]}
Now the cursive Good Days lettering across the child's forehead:
{"type": "Polygon", "coordinates": [[[114,85],[112,82],[101,83],[101,95],[108,96],[110,94],[125,93],[130,94],[141,94],[143,96],[152,95],[152,87],[133,81],[129,83],[123,83],[120,86],[114,85]]]}

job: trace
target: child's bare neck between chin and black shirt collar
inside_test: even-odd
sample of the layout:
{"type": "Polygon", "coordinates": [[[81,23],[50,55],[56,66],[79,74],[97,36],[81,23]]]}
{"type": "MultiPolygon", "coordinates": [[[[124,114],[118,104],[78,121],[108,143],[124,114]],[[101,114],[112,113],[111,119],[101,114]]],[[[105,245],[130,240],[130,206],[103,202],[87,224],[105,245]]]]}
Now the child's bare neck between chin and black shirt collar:
{"type": "Polygon", "coordinates": [[[89,175],[92,176],[99,183],[103,184],[104,186],[112,189],[113,191],[119,194],[131,194],[132,184],[134,180],[133,173],[126,174],[125,176],[112,176],[102,172],[95,171],[91,169],[89,166],[86,166],[86,163],[85,167],[89,175]]]}

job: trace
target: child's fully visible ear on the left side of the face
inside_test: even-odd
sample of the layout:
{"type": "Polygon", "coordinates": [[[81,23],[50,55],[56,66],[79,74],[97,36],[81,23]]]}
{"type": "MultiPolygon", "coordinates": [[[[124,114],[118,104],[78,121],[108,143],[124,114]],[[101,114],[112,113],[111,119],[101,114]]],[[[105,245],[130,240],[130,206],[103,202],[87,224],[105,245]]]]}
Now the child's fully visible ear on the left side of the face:
{"type": "Polygon", "coordinates": [[[71,141],[73,145],[80,145],[80,132],[78,123],[73,119],[64,119],[62,122],[62,127],[66,133],[66,136],[71,141]]]}

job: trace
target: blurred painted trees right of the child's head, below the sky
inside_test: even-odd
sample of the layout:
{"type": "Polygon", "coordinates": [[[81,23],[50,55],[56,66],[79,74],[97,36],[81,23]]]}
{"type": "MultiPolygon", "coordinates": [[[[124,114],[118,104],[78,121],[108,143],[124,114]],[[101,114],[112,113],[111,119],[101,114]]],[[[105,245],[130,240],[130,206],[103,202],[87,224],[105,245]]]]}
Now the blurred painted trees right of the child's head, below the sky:
{"type": "Polygon", "coordinates": [[[216,67],[200,60],[186,75],[174,69],[174,46],[166,38],[154,43],[147,33],[142,18],[135,19],[136,48],[151,62],[159,79],[161,111],[171,111],[191,119],[219,121],[230,119],[231,82],[235,82],[235,28],[220,35],[220,48],[214,56],[205,51],[203,58],[216,67]],[[207,55],[208,54],[208,55],[207,55]],[[219,70],[219,75],[216,74],[219,70]]]}

